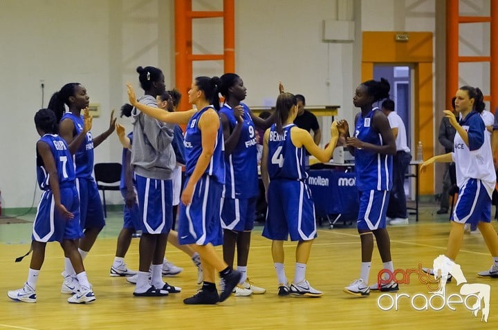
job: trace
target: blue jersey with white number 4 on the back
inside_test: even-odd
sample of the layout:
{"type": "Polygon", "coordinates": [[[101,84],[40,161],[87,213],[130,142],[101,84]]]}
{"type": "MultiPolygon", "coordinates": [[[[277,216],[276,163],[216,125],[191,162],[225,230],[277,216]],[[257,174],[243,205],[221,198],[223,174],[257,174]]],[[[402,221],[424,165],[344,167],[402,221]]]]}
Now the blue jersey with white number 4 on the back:
{"type": "Polygon", "coordinates": [[[291,140],[291,128],[288,124],[282,129],[282,134],[277,132],[273,124],[268,137],[268,174],[271,179],[302,180],[308,177],[305,168],[306,151],[303,147],[297,148],[291,140]]]}

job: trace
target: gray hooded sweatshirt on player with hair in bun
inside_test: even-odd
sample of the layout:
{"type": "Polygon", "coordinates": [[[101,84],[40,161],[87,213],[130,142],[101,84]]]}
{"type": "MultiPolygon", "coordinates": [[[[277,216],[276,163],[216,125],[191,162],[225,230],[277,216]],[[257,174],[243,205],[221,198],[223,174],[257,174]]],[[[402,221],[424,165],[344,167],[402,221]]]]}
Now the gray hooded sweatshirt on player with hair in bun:
{"type": "MultiPolygon", "coordinates": [[[[141,104],[157,107],[151,95],[138,98],[141,104]]],[[[131,144],[131,167],[142,177],[169,180],[176,166],[171,142],[174,125],[159,122],[141,113],[137,108],[131,112],[133,117],[133,144],[131,144]]]]}

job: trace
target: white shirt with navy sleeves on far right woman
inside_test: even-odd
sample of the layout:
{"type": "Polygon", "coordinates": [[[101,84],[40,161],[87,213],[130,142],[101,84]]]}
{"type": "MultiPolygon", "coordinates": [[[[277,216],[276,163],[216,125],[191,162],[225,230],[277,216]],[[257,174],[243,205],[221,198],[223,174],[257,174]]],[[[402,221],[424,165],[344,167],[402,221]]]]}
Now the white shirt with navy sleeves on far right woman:
{"type": "Polygon", "coordinates": [[[485,134],[486,126],[475,111],[462,119],[460,126],[468,133],[469,145],[463,142],[457,131],[452,153],[457,168],[457,186],[463,187],[468,179],[480,179],[491,197],[495,189],[496,173],[492,162],[490,135],[485,134]]]}

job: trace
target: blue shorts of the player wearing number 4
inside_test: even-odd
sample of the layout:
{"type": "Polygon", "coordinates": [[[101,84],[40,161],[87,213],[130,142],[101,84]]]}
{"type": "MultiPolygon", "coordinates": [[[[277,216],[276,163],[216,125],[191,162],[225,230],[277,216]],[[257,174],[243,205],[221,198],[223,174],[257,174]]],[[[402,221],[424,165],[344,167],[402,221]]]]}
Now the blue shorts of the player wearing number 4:
{"type": "Polygon", "coordinates": [[[274,179],[268,186],[268,212],[263,236],[270,240],[313,240],[316,235],[315,205],[305,182],[274,179]]]}

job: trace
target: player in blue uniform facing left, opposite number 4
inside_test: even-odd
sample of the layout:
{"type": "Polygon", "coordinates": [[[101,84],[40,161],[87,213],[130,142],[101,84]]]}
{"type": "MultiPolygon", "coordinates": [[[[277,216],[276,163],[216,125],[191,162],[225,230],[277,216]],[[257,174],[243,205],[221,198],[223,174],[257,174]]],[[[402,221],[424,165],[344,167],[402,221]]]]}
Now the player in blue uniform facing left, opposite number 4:
{"type": "Polygon", "coordinates": [[[398,284],[390,282],[378,288],[368,285],[371,257],[374,252],[374,235],[382,259],[383,269],[394,271],[391,259],[391,241],[386,229],[386,211],[389,190],[392,186],[392,155],[396,154],[396,140],[387,117],[374,103],[389,97],[389,82],[369,80],[356,88],[353,104],[360,108],[355,117],[355,131],[349,137],[349,126],[344,120],[340,131],[346,135],[346,144],[355,156],[356,186],[360,193],[358,233],[360,233],[362,263],[360,278],[354,280],[344,292],[360,297],[370,290],[398,291],[398,284]]]}

